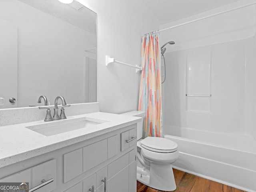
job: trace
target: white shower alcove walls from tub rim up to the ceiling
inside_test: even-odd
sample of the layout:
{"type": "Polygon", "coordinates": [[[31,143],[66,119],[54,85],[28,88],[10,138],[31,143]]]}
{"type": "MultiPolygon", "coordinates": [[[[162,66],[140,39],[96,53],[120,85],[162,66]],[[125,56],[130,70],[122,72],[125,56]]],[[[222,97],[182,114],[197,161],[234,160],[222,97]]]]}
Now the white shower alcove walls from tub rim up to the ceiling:
{"type": "Polygon", "coordinates": [[[165,133],[178,126],[256,138],[255,10],[250,6],[161,33],[160,45],[176,42],[167,46],[165,54],[165,133]],[[186,94],[212,96],[190,98],[186,94]]]}

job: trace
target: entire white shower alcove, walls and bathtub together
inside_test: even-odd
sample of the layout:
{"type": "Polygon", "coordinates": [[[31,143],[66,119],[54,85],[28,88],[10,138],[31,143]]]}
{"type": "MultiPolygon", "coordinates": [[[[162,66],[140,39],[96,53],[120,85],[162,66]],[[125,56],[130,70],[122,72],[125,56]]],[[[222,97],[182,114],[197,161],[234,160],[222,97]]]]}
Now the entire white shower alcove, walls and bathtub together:
{"type": "MultiPolygon", "coordinates": [[[[246,2],[253,3],[239,1],[160,29],[246,2]]],[[[180,151],[174,166],[250,192],[256,191],[255,8],[161,32],[160,40],[176,42],[164,54],[162,89],[164,134],[180,151]]]]}

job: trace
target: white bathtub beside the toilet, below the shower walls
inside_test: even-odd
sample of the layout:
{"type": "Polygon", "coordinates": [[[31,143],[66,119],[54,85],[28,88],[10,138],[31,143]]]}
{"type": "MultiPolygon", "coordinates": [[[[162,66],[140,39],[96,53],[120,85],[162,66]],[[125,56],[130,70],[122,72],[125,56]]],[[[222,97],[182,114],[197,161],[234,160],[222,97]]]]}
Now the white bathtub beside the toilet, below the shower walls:
{"type": "Polygon", "coordinates": [[[172,127],[164,135],[178,144],[173,167],[228,186],[256,192],[256,141],[223,134],[172,127]]]}

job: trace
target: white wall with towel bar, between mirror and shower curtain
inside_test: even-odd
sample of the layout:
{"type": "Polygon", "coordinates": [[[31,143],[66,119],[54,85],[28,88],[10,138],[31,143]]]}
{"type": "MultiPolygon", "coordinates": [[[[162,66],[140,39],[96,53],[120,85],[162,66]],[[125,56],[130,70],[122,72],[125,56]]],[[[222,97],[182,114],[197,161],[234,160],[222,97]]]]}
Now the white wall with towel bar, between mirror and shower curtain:
{"type": "Polygon", "coordinates": [[[102,112],[138,109],[140,74],[118,64],[105,66],[105,55],[140,65],[141,39],[158,29],[156,20],[138,9],[137,0],[78,0],[97,13],[97,101],[102,112]]]}

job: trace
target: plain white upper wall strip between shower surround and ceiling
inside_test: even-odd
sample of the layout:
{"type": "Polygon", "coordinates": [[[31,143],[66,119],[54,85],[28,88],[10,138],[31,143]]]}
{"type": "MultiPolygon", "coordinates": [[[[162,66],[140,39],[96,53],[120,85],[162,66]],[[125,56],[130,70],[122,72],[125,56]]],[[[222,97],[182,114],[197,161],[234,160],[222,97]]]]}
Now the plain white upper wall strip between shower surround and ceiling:
{"type": "MultiPolygon", "coordinates": [[[[244,0],[216,8],[182,20],[161,25],[160,29],[237,8],[249,2],[252,2],[252,0],[244,0]]],[[[248,6],[163,31],[160,34],[160,45],[171,40],[175,41],[175,45],[166,46],[166,52],[172,52],[249,38],[255,33],[255,9],[255,5],[248,6]]]]}

